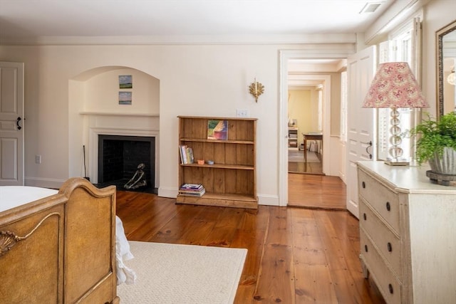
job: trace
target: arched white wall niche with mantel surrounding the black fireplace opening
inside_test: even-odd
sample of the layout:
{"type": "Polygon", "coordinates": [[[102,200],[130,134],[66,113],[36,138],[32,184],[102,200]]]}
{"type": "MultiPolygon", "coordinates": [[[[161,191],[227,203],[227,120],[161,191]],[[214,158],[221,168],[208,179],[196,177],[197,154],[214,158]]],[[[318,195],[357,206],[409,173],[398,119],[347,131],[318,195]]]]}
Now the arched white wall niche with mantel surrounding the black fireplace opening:
{"type": "Polygon", "coordinates": [[[159,178],[160,80],[126,66],[85,70],[68,81],[69,176],[98,182],[98,135],[155,137],[155,187],[159,178]],[[121,89],[119,75],[131,75],[133,88],[121,89]],[[119,92],[132,103],[119,103],[119,92]],[[85,150],[85,159],[84,159],[85,150]]]}

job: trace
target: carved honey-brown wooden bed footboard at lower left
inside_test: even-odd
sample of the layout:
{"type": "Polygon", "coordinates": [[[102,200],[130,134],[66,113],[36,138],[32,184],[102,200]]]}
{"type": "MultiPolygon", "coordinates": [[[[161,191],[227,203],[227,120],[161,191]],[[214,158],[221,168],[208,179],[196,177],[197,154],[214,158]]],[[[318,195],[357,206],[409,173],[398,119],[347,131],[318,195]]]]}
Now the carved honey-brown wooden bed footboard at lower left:
{"type": "Polygon", "coordinates": [[[115,187],[68,179],[58,194],[0,212],[5,303],[120,303],[115,187]]]}

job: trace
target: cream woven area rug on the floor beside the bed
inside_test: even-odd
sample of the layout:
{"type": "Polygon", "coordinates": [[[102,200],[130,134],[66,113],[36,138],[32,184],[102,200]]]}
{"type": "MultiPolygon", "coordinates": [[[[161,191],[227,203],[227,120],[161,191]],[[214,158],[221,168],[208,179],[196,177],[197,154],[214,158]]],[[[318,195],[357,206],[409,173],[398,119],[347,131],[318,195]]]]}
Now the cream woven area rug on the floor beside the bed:
{"type": "Polygon", "coordinates": [[[130,241],[125,265],[138,278],[118,285],[122,304],[233,303],[247,249],[130,241]]]}

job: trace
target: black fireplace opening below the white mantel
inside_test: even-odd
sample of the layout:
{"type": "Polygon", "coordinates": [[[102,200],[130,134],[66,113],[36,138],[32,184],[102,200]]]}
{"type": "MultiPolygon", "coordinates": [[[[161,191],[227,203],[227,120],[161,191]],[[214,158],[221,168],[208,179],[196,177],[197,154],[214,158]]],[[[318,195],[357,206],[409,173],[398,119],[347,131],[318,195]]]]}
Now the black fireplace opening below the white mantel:
{"type": "MultiPolygon", "coordinates": [[[[137,176],[138,177],[138,174],[137,176]]],[[[98,135],[98,185],[118,190],[157,193],[155,189],[155,137],[98,135]],[[145,186],[124,187],[144,164],[145,186]]],[[[131,183],[130,183],[131,185],[131,183]]]]}

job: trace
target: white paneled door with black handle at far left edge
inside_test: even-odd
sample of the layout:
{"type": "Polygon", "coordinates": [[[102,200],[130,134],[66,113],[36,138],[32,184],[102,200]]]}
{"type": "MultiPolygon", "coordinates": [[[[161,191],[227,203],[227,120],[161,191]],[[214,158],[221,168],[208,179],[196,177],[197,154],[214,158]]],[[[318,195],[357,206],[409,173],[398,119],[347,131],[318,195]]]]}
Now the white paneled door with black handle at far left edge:
{"type": "Polygon", "coordinates": [[[24,185],[24,63],[0,62],[0,186],[24,185]]]}

